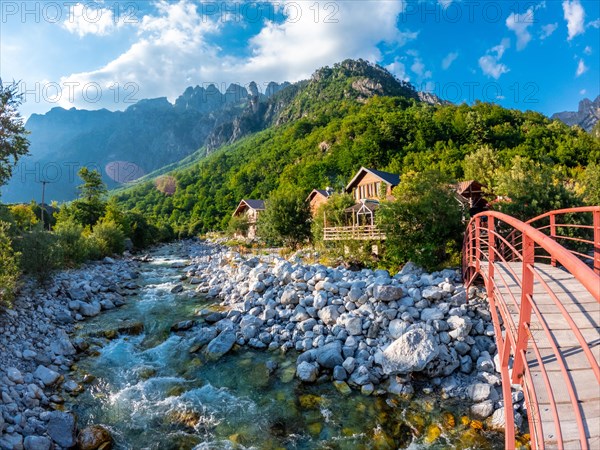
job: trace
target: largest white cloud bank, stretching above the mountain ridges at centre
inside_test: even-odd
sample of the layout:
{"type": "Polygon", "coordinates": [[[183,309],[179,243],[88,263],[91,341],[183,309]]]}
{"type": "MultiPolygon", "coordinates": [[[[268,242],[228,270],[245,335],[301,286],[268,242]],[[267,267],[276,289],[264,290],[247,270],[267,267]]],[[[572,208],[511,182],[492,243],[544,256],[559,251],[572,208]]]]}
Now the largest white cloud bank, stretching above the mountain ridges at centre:
{"type": "Polygon", "coordinates": [[[320,20],[315,20],[312,4],[276,5],[287,20],[265,20],[260,32],[248,41],[249,56],[241,57],[211,42],[211,35],[221,31],[219,18],[201,15],[191,0],[162,0],[156,5],[158,13],[143,17],[138,24],[138,40],[128,50],[97,70],[75,73],[62,81],[94,82],[103,88],[133,82],[139,86],[138,99],[167,96],[174,100],[192,83],[297,81],[318,67],[346,58],[380,61],[381,42],[397,48],[418,36],[418,32],[397,28],[403,2],[383,2],[377,8],[370,2],[337,2],[329,10],[323,3],[320,20]]]}

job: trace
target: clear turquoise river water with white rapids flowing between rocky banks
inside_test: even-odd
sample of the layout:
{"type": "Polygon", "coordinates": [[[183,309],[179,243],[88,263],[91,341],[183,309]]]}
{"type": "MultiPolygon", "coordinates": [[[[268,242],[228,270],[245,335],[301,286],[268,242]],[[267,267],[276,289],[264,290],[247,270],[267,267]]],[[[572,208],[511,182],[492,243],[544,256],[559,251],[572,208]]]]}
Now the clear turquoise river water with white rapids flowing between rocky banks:
{"type": "Polygon", "coordinates": [[[463,423],[458,404],[442,407],[427,396],[342,395],[331,382],[303,385],[293,376],[296,354],[234,348],[207,362],[190,353],[193,330],[173,333],[170,327],[210,303],[170,293],[180,275],[170,268],[177,260],[170,250],[144,263],[139,296],[78,332],[91,351],[74,377],[90,374],[95,381],[68,406],[80,426],[107,426],[115,448],[504,448],[501,434],[463,423]],[[143,323],[142,334],[101,337],[135,322],[143,323]],[[269,371],[269,361],[276,370],[269,371]]]}

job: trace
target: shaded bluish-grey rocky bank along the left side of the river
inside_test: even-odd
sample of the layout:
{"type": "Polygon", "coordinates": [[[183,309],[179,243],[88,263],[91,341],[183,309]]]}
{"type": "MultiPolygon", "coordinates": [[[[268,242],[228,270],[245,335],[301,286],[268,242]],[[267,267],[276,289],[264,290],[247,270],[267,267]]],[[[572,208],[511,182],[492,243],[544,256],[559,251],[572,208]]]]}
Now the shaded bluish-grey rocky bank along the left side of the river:
{"type": "Polygon", "coordinates": [[[105,258],[59,272],[45,287],[26,281],[0,313],[1,449],[75,445],[75,419],[61,409],[81,389],[69,373],[86,343],[70,336],[77,323],[125,304],[137,276],[135,261],[105,258]]]}

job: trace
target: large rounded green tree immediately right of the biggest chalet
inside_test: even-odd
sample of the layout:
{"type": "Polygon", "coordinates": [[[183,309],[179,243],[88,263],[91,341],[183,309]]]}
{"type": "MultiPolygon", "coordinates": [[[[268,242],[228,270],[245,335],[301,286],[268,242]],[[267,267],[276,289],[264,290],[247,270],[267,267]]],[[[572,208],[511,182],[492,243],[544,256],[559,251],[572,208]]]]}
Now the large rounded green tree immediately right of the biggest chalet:
{"type": "Polygon", "coordinates": [[[434,171],[405,174],[384,202],[377,222],[386,233],[385,258],[391,265],[408,261],[436,268],[458,255],[464,224],[448,180],[434,171]]]}

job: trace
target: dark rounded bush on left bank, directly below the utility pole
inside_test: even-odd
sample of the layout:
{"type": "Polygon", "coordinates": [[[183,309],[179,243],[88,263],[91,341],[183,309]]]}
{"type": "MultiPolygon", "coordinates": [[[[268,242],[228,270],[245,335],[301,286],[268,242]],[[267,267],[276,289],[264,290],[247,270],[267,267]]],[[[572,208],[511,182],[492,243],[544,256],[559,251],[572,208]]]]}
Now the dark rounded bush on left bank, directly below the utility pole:
{"type": "Polygon", "coordinates": [[[21,252],[23,272],[33,275],[40,283],[46,282],[52,271],[61,266],[63,257],[58,240],[41,225],[23,233],[15,241],[15,247],[21,252]]]}

